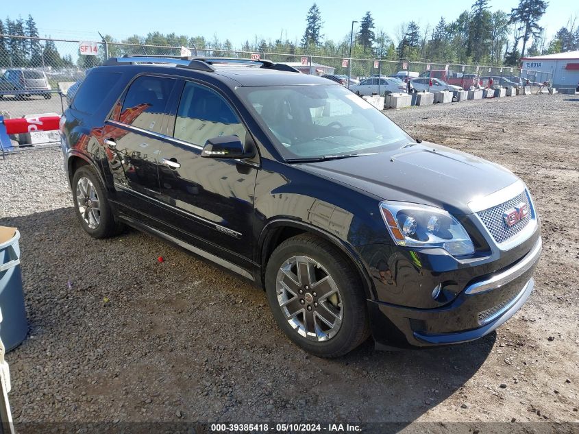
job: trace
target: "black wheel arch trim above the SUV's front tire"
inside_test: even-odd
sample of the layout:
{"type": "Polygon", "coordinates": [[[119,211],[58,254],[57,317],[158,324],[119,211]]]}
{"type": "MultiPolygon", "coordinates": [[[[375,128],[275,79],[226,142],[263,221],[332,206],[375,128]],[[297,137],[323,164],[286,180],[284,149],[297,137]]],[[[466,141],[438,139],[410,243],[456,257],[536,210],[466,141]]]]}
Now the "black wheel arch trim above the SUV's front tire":
{"type": "Polygon", "coordinates": [[[364,262],[358,255],[358,252],[356,252],[356,250],[352,247],[352,245],[339,239],[334,234],[330,234],[330,232],[318,228],[317,226],[311,226],[310,224],[306,224],[303,221],[297,221],[287,218],[274,219],[272,221],[269,221],[261,231],[261,234],[258,239],[256,252],[256,259],[257,259],[256,262],[260,264],[261,268],[259,275],[256,277],[259,278],[260,283],[264,282],[265,260],[267,259],[267,257],[264,255],[264,247],[269,243],[269,241],[271,241],[271,237],[274,233],[274,230],[282,226],[291,226],[292,228],[304,230],[304,232],[316,234],[319,237],[327,241],[330,241],[330,243],[338,247],[347,256],[347,258],[349,258],[350,261],[352,261],[352,263],[356,267],[356,272],[358,272],[358,276],[360,276],[360,279],[362,280],[362,286],[364,287],[366,298],[369,300],[376,299],[375,288],[367,273],[364,262]]]}

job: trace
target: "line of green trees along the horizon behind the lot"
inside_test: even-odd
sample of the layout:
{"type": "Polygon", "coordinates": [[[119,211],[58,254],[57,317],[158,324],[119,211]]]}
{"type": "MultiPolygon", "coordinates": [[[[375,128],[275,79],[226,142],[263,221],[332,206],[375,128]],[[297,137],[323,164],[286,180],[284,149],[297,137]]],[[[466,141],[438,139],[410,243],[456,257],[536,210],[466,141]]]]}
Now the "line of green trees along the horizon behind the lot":
{"type": "MultiPolygon", "coordinates": [[[[415,21],[402,23],[392,29],[393,34],[376,25],[371,11],[367,11],[359,19],[356,34],[348,32],[337,41],[324,37],[321,10],[314,3],[306,13],[306,29],[301,40],[288,40],[281,32],[275,40],[254,36],[237,48],[262,53],[346,58],[349,57],[350,38],[354,36],[354,58],[513,66],[524,56],[579,49],[579,25],[574,18],[569,19],[567,26],[561,27],[554,38],[546,40],[539,21],[548,8],[547,1],[520,0],[517,8],[510,12],[491,12],[488,3],[489,0],[476,0],[454,21],[447,21],[442,16],[434,27],[420,27],[415,21]]],[[[70,54],[61,56],[54,41],[36,39],[38,28],[32,15],[27,19],[12,20],[8,17],[5,21],[0,20],[2,34],[24,38],[0,36],[0,67],[88,68],[101,63],[104,58],[100,53],[99,56],[77,56],[73,62],[70,54]]],[[[205,53],[202,54],[208,52],[210,56],[227,56],[235,49],[229,39],[221,41],[217,34],[205,38],[149,32],[147,36],[134,35],[121,40],[105,35],[104,39],[110,43],[127,44],[109,45],[109,56],[175,54],[174,50],[162,47],[181,46],[203,49],[205,53]],[[160,47],[132,47],[128,44],[160,47]]]]}

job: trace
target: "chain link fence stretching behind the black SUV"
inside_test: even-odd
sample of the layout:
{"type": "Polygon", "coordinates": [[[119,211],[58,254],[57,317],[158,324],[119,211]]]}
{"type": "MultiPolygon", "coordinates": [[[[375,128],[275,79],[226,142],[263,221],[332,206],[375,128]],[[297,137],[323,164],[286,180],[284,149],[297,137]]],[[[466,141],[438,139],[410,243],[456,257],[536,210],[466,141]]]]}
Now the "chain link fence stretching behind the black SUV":
{"type": "MultiPolygon", "coordinates": [[[[0,114],[6,118],[39,113],[62,114],[69,102],[69,89],[84,78],[88,69],[102,64],[106,59],[121,56],[181,56],[182,48],[188,49],[191,56],[267,59],[284,62],[303,73],[350,74],[356,80],[373,75],[402,76],[399,74],[401,71],[411,73],[410,76],[432,75],[458,85],[477,75],[483,87],[487,84],[484,80],[488,80],[485,77],[505,77],[516,84],[524,84],[528,79],[536,86],[550,80],[547,73],[521,71],[513,67],[83,42],[0,34],[0,114]]],[[[76,87],[72,87],[73,90],[76,87]]]]}

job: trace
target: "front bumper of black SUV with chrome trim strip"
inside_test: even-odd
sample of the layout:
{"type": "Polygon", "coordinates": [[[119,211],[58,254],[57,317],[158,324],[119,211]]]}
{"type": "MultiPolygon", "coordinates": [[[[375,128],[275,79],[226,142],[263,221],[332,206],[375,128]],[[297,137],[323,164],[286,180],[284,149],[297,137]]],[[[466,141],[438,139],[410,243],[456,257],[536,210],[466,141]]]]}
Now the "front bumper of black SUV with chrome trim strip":
{"type": "Polygon", "coordinates": [[[517,263],[470,282],[452,302],[415,309],[368,301],[374,339],[389,346],[436,346],[488,335],[515,315],[534,286],[541,238],[517,263]]]}

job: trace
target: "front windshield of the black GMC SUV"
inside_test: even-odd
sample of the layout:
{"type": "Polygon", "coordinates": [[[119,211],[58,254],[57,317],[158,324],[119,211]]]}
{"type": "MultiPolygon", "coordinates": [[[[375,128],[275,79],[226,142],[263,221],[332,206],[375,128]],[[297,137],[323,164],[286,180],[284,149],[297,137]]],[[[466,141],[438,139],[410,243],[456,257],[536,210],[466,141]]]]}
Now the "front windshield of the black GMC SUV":
{"type": "Polygon", "coordinates": [[[286,160],[381,152],[412,141],[386,115],[342,86],[238,91],[286,160]]]}

